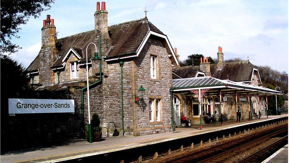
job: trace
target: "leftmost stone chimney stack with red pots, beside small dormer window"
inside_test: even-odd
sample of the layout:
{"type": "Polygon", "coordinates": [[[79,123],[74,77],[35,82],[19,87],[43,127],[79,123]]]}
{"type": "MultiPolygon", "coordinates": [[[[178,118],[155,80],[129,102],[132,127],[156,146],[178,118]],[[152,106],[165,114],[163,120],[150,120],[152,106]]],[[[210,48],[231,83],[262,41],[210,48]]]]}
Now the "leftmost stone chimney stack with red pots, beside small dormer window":
{"type": "Polygon", "coordinates": [[[42,47],[39,52],[39,83],[42,85],[55,83],[54,72],[50,68],[58,56],[55,30],[54,19],[50,19],[50,15],[47,15],[41,29],[42,47]]]}

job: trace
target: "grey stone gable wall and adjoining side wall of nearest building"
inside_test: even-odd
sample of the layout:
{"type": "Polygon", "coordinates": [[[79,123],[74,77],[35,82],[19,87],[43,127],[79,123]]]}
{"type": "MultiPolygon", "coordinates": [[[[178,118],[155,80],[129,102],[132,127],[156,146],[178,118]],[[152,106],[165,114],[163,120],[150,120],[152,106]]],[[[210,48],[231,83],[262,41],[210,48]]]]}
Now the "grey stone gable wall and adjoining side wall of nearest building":
{"type": "MultiPolygon", "coordinates": [[[[119,62],[108,63],[109,76],[103,80],[104,124],[115,124],[122,132],[121,118],[121,67],[119,62]]],[[[123,64],[123,104],[125,135],[145,135],[171,131],[171,107],[169,88],[171,87],[171,62],[163,42],[149,38],[138,57],[123,64]],[[150,55],[157,56],[158,79],[150,79],[150,55]],[[134,103],[134,94],[139,95],[140,86],[146,89],[144,101],[134,103]],[[149,121],[149,98],[161,99],[162,121],[149,121]]],[[[113,128],[111,125],[110,128],[113,128]]]]}

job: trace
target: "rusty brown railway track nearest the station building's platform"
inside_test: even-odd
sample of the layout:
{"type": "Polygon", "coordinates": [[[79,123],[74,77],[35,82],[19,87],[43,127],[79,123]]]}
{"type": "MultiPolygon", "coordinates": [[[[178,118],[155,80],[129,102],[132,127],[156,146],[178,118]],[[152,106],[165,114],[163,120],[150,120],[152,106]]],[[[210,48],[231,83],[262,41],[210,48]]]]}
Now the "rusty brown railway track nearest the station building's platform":
{"type": "MultiPolygon", "coordinates": [[[[266,129],[261,132],[254,132],[252,134],[248,134],[245,136],[243,134],[243,137],[238,137],[235,139],[229,139],[226,141],[215,140],[215,143],[209,145],[207,148],[205,148],[205,146],[202,146],[202,143],[200,143],[199,146],[202,146],[202,148],[198,150],[189,149],[189,150],[184,151],[183,154],[178,153],[178,156],[175,156],[175,157],[169,156],[169,157],[154,159],[151,162],[223,162],[229,157],[236,155],[236,153],[240,153],[239,151],[240,149],[238,149],[238,152],[236,152],[237,148],[248,150],[248,148],[252,148],[252,146],[256,146],[258,142],[260,144],[266,140],[269,140],[270,137],[277,136],[278,134],[280,134],[280,132],[286,132],[286,130],[288,132],[288,123],[280,125],[280,126],[276,126],[274,128],[266,129]]],[[[252,132],[252,131],[253,129],[252,130],[248,129],[247,133],[252,132]]],[[[238,136],[240,135],[240,133],[241,132],[239,132],[239,134],[235,133],[234,135],[238,136]]],[[[244,131],[244,133],[246,133],[246,130],[244,131]]]]}

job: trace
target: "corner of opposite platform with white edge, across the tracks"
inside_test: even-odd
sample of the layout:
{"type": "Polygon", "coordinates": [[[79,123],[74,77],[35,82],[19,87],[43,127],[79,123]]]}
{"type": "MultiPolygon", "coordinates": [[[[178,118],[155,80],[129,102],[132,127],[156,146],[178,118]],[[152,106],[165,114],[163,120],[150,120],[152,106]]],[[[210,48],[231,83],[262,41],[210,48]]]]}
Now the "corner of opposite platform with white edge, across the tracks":
{"type": "Polygon", "coordinates": [[[288,162],[288,144],[283,148],[272,154],[272,156],[268,157],[268,159],[264,160],[262,163],[280,163],[280,162],[288,162]]]}

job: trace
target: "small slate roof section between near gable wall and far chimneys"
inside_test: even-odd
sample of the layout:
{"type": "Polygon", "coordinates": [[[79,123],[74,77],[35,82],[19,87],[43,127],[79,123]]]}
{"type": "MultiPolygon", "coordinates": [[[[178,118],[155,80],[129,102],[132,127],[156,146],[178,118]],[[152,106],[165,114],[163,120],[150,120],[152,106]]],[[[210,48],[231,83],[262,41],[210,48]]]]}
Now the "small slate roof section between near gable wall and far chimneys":
{"type": "Polygon", "coordinates": [[[185,67],[175,68],[175,69],[172,69],[172,72],[173,72],[172,78],[180,79],[180,77],[181,78],[195,77],[198,71],[202,72],[200,70],[200,66],[185,66],[185,67]]]}

